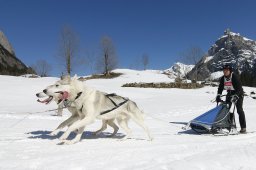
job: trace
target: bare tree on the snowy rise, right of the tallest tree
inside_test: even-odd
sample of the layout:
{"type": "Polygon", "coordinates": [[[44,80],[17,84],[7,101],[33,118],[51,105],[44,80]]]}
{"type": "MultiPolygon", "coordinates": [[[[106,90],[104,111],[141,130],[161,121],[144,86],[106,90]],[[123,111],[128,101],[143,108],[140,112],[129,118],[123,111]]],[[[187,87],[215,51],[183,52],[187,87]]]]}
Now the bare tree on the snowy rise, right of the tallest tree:
{"type": "Polygon", "coordinates": [[[109,75],[118,64],[116,50],[110,37],[102,37],[100,41],[100,50],[101,54],[97,63],[97,69],[103,71],[104,75],[109,75]]]}

